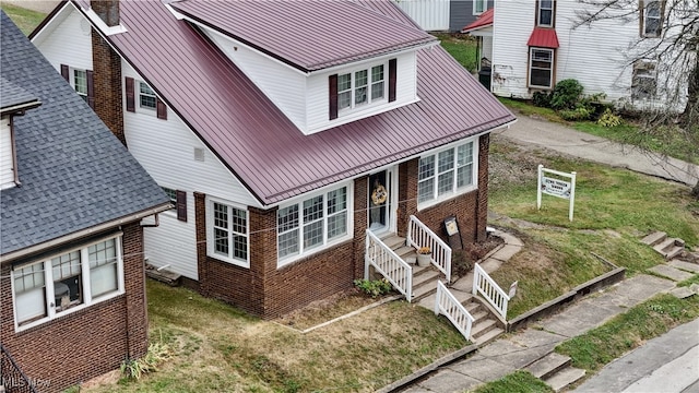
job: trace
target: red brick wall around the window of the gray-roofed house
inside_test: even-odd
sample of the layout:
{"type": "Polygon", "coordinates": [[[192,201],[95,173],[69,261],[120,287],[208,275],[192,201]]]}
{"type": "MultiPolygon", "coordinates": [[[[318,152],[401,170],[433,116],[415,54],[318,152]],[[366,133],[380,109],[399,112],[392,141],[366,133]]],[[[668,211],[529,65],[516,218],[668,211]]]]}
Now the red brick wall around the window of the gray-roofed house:
{"type": "Polygon", "coordinates": [[[14,331],[11,267],[2,266],[0,342],[27,377],[42,381],[40,392],[63,391],[147,349],[142,229],[135,223],[122,230],[127,293],[20,333],[14,331]]]}

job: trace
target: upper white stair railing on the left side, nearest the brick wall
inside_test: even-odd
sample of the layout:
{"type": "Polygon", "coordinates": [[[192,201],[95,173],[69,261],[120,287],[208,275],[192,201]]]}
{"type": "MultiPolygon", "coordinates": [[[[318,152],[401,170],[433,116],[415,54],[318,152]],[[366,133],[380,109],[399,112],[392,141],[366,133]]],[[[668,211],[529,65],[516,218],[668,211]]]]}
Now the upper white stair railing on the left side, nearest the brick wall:
{"type": "Polygon", "coordinates": [[[369,279],[369,265],[381,273],[410,302],[413,297],[413,267],[367,229],[364,252],[364,278],[369,279]]]}

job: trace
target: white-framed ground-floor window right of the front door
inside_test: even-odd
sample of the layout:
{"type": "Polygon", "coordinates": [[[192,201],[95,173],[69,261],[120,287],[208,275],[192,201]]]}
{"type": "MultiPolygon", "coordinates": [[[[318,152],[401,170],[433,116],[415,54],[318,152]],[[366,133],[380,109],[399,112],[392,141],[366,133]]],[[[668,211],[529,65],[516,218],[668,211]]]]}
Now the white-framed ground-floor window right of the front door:
{"type": "Polygon", "coordinates": [[[417,204],[424,207],[477,187],[477,155],[475,141],[471,140],[420,156],[417,204]]]}

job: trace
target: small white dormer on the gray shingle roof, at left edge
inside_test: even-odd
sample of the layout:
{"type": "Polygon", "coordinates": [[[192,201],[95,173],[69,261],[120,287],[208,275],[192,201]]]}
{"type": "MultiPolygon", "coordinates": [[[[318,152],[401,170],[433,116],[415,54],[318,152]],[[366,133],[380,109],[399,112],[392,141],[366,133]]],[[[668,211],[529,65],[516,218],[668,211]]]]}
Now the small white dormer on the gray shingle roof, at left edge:
{"type": "Polygon", "coordinates": [[[0,76],[0,189],[20,186],[14,119],[39,105],[36,97],[0,76]]]}

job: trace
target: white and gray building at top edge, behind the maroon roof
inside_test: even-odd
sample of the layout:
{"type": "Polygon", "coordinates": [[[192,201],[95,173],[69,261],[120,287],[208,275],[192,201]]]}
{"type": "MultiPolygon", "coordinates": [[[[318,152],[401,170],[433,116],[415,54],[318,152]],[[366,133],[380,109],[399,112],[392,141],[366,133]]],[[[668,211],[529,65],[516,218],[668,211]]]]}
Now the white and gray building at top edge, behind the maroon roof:
{"type": "Polygon", "coordinates": [[[459,33],[493,8],[494,0],[393,0],[423,29],[459,33]]]}

